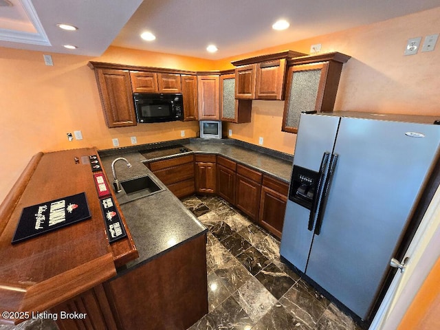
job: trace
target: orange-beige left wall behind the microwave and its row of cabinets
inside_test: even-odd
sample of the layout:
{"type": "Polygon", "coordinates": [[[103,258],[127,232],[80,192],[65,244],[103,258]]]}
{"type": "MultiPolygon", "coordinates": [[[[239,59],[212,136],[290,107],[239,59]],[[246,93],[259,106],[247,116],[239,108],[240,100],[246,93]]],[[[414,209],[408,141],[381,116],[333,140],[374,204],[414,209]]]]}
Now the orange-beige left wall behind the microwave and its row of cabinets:
{"type": "Polygon", "coordinates": [[[52,54],[46,66],[42,52],[0,48],[0,201],[3,201],[32,155],[67,148],[120,146],[195,137],[198,122],[165,122],[108,129],[94,71],[87,63],[101,61],[203,71],[212,61],[110,47],[99,58],[52,54]],[[68,142],[66,133],[80,130],[83,140],[68,142]]]}

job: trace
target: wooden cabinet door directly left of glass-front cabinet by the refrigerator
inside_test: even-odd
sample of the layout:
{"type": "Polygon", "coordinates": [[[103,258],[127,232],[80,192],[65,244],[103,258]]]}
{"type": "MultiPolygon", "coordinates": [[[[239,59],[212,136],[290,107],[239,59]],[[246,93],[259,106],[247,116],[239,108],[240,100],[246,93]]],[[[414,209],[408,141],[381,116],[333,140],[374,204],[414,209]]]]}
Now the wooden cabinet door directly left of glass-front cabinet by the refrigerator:
{"type": "Polygon", "coordinates": [[[286,59],[258,63],[256,66],[255,98],[283,100],[286,59]]]}

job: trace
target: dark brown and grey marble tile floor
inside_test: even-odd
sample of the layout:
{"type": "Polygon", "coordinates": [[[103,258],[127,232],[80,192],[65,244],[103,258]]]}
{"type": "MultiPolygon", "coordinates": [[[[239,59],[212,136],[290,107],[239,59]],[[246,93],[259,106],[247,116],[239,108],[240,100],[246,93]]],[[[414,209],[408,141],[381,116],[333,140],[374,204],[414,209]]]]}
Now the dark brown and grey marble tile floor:
{"type": "Polygon", "coordinates": [[[184,205],[209,228],[209,313],[188,330],[361,330],[280,260],[280,242],[219,197],[184,205]]]}

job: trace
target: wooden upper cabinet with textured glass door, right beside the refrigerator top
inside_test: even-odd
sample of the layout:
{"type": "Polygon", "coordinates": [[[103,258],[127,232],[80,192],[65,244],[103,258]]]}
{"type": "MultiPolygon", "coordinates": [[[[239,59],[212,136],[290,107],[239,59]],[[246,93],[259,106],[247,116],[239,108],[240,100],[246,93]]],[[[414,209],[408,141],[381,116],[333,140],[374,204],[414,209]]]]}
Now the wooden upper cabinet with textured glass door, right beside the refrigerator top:
{"type": "Polygon", "coordinates": [[[288,61],[282,131],[297,133],[302,112],[333,111],[342,65],[349,59],[335,52],[288,61]]]}

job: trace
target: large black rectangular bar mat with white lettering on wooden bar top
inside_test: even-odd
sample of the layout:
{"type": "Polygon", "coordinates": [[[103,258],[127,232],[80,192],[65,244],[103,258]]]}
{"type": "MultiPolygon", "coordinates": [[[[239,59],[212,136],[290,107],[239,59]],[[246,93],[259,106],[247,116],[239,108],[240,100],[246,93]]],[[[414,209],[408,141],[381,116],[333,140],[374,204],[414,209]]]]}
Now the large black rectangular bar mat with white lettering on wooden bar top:
{"type": "Polygon", "coordinates": [[[12,244],[89,219],[85,192],[23,208],[12,244]]]}

